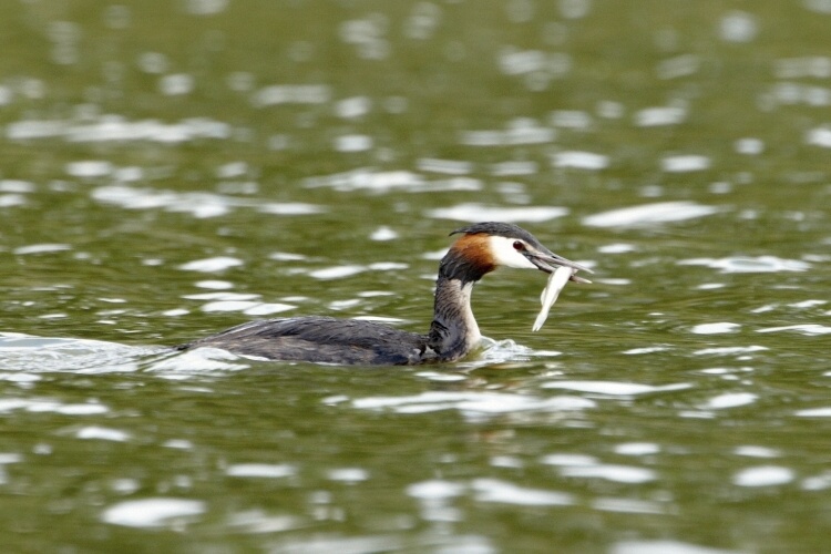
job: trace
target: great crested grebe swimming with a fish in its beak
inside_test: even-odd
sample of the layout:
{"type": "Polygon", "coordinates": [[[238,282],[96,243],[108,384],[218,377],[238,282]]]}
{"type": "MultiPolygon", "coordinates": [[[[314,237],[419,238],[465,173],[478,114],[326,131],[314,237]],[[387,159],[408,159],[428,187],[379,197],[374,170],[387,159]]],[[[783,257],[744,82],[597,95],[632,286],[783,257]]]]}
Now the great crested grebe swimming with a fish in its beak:
{"type": "MultiPolygon", "coordinates": [[[[229,352],[285,361],[337,365],[394,365],[455,361],[482,336],[473,318],[473,285],[500,266],[540,269],[558,267],[592,273],[548,250],[527,230],[510,223],[478,223],[462,233],[439,265],[433,322],[427,335],[373,321],[307,316],[249,321],[177,347],[219,348],[229,352]]],[[[588,283],[571,274],[570,280],[588,283]]]]}

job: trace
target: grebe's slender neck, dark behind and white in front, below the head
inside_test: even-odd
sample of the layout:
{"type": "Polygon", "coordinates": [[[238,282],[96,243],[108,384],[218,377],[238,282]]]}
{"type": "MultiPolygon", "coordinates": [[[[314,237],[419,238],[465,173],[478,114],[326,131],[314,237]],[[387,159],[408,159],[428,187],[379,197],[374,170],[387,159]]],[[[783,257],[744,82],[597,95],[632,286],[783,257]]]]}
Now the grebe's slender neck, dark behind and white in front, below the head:
{"type": "Polygon", "coordinates": [[[479,325],[470,307],[475,280],[449,278],[441,270],[435,281],[433,322],[428,346],[442,361],[453,361],[471,351],[480,341],[479,325]]]}

